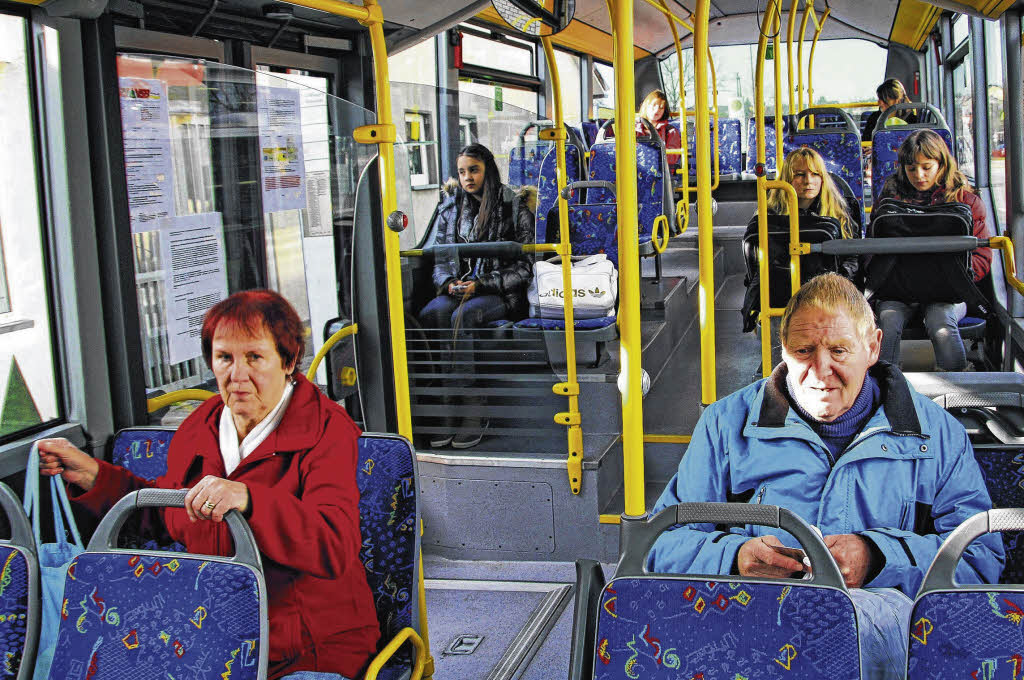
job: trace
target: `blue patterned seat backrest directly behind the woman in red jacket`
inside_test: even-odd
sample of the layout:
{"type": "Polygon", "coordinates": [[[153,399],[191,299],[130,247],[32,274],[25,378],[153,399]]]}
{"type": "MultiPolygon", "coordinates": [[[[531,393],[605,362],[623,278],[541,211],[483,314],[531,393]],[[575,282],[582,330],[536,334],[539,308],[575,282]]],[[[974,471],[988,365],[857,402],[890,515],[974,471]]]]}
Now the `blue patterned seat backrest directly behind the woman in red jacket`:
{"type": "MultiPolygon", "coordinates": [[[[384,647],[402,628],[419,630],[419,477],[416,452],[397,434],[364,433],[355,475],[359,487],[359,559],[374,595],[384,647]]],[[[387,668],[409,668],[404,645],[387,668]]]]}

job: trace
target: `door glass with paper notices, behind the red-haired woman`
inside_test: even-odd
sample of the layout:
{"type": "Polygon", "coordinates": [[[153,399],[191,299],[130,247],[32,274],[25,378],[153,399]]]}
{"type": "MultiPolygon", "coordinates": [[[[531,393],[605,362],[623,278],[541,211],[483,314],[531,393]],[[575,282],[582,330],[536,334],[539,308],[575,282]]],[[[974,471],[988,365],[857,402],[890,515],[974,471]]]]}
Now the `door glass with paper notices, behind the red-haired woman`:
{"type": "Polygon", "coordinates": [[[150,390],[213,386],[201,356],[205,311],[270,288],[308,330],[348,315],[351,215],[375,145],[372,114],[313,75],[122,54],[122,129],[150,390]]]}

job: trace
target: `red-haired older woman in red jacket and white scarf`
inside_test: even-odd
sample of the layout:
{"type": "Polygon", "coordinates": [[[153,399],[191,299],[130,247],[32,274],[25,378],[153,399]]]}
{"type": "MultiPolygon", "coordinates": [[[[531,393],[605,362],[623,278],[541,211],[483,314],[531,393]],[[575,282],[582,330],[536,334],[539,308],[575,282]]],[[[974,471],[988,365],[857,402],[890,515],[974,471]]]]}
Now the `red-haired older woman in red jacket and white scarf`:
{"type": "Polygon", "coordinates": [[[220,394],[178,428],[167,474],[146,481],[67,439],[39,442],[41,471],[59,474],[97,515],[137,488],[190,488],[184,509],[162,514],[167,533],[191,552],[228,554],[222,520],[239,510],[269,592],[269,677],[357,677],[379,637],[358,557],[359,430],[296,372],[302,324],[279,294],[245,291],[218,303],[202,345],[220,394]]]}

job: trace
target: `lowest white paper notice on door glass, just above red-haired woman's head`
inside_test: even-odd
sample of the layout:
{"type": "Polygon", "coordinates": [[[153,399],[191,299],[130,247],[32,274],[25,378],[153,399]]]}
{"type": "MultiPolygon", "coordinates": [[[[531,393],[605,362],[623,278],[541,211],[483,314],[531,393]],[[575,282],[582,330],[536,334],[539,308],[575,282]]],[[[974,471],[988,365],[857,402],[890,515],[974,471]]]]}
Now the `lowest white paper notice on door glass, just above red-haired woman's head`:
{"type": "Polygon", "coordinates": [[[220,213],[174,217],[161,224],[171,364],[203,353],[203,315],[227,297],[223,231],[220,213]]]}

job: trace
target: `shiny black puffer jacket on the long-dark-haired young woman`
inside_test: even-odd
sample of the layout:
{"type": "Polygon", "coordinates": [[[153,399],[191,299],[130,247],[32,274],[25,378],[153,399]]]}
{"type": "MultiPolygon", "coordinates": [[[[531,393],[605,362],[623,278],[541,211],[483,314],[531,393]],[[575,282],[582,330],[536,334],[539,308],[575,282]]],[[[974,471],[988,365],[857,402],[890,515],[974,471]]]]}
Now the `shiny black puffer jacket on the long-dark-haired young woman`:
{"type": "MultiPolygon", "coordinates": [[[[459,235],[460,212],[465,193],[457,184],[449,183],[441,190],[441,203],[437,209],[437,245],[466,243],[459,235]]],[[[490,241],[516,241],[521,244],[536,242],[534,211],[537,195],[531,187],[518,192],[502,185],[502,201],[505,214],[513,219],[504,220],[499,232],[490,241]]],[[[534,278],[534,257],[520,255],[514,259],[498,257],[468,258],[454,255],[438,255],[434,259],[434,286],[438,295],[446,295],[449,284],[467,275],[476,267],[476,294],[498,295],[505,303],[509,314],[524,315],[526,312],[526,287],[534,278]]]]}

